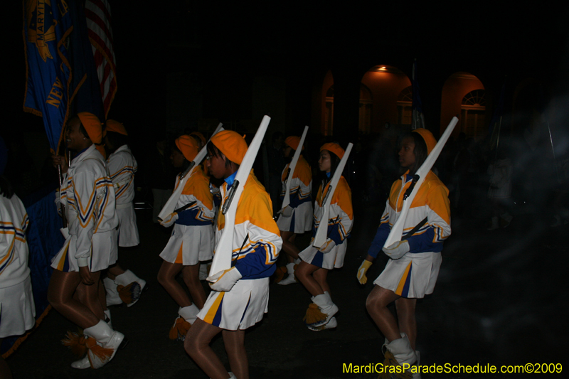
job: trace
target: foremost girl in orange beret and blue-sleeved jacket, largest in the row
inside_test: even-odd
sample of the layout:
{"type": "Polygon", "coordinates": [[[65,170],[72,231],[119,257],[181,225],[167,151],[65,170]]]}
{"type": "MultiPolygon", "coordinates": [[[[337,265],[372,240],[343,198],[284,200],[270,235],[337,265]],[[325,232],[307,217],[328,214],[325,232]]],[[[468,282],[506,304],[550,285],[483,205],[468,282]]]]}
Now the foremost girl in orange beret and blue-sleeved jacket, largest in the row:
{"type": "MultiPolygon", "coordinates": [[[[247,144],[236,132],[225,130],[211,137],[206,166],[212,176],[225,180],[220,188],[222,204],[245,151],[247,144]]],[[[267,312],[269,277],[275,272],[282,245],[265,188],[252,171],[244,184],[241,198],[233,199],[238,201],[233,232],[233,267],[212,275],[217,282],[211,284],[213,291],[184,342],[186,352],[213,379],[249,378],[245,329],[255,325],[267,312]],[[209,346],[211,339],[220,332],[235,375],[228,373],[209,346]]],[[[224,216],[219,213],[216,240],[220,238],[224,224],[224,216]]]]}

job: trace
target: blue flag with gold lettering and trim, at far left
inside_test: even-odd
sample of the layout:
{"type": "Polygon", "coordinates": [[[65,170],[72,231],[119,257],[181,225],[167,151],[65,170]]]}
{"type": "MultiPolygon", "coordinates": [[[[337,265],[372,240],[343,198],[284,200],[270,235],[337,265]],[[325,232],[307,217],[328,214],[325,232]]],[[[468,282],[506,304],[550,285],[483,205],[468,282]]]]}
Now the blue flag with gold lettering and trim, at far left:
{"type": "Polygon", "coordinates": [[[50,146],[58,151],[67,121],[71,80],[66,42],[73,31],[65,0],[23,2],[26,94],[23,110],[43,116],[50,146]]]}

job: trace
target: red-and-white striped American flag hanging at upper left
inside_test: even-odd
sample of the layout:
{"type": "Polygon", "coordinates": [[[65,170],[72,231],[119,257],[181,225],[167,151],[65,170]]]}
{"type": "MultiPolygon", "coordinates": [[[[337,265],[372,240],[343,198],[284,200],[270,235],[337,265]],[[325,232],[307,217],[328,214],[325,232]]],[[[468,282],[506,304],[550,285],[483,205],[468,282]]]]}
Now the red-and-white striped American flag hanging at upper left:
{"type": "Polygon", "coordinates": [[[87,0],[85,16],[95,67],[101,86],[105,116],[117,92],[115,51],[112,48],[111,10],[107,0],[87,0]]]}

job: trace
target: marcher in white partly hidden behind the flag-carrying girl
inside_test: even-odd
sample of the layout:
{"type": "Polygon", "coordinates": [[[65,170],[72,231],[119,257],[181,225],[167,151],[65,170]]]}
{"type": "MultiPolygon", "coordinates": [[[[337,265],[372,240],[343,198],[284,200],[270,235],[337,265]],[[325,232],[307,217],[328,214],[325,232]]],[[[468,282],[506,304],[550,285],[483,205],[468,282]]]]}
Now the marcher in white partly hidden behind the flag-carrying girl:
{"type": "MultiPolygon", "coordinates": [[[[132,247],[140,243],[137,215],[134,213],[134,174],[137,172],[137,160],[127,144],[127,129],[113,119],[107,120],[105,129],[105,149],[108,153],[107,169],[115,187],[117,217],[119,230],[117,239],[119,247],[132,247]]],[[[107,306],[122,304],[132,306],[146,287],[146,280],[140,279],[132,271],[122,269],[118,264],[109,267],[107,277],[103,279],[107,290],[107,306]],[[137,283],[138,285],[134,285],[137,283]],[[130,284],[130,286],[129,286],[130,284]],[[118,286],[124,287],[122,291],[118,286]],[[120,295],[120,296],[119,296],[120,295]]]]}

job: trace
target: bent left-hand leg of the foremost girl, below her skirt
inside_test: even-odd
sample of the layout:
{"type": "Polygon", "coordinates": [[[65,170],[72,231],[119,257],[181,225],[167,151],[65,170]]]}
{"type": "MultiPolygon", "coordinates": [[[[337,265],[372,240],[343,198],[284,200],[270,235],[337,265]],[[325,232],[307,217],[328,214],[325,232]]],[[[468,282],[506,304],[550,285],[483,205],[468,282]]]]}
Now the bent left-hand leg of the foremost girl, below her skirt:
{"type": "Polygon", "coordinates": [[[223,329],[197,319],[186,334],[184,341],[186,353],[211,379],[229,379],[228,371],[225,370],[223,363],[209,346],[211,339],[220,331],[223,329]]]}

